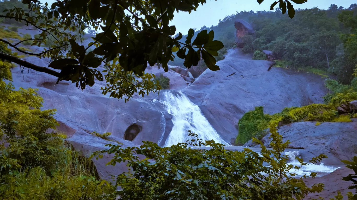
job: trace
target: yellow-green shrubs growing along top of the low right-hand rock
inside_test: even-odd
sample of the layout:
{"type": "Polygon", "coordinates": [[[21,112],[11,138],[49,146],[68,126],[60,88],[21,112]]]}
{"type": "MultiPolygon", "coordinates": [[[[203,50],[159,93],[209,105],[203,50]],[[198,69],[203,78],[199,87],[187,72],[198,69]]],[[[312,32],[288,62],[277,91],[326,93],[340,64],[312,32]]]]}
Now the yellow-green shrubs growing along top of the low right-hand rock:
{"type": "MultiPolygon", "coordinates": [[[[298,121],[317,121],[317,125],[320,122],[350,122],[350,118],[356,117],[356,114],[350,112],[347,115],[340,115],[337,107],[340,105],[347,106],[351,101],[357,100],[356,81],[357,76],[351,81],[351,85],[343,85],[336,80],[327,79],[326,87],[332,93],[324,97],[325,104],[285,108],[281,113],[274,115],[264,114],[261,106],[255,107],[255,110],[246,112],[238,121],[236,144],[244,144],[251,140],[252,137],[261,139],[266,134],[264,130],[273,123],[278,123],[281,126],[298,121]]],[[[350,111],[350,109],[347,110],[350,111]]]]}

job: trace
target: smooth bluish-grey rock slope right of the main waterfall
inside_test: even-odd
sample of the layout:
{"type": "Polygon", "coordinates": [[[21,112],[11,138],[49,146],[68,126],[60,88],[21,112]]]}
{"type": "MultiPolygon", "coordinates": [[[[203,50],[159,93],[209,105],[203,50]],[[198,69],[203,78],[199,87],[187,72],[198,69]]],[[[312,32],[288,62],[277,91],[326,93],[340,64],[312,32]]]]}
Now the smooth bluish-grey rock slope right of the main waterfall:
{"type": "Polygon", "coordinates": [[[285,107],[323,102],[326,88],[321,76],[275,67],[267,71],[270,63],[231,49],[217,62],[220,70],[206,70],[182,91],[230,143],[238,134],[238,120],[255,106],[275,114],[285,107]]]}

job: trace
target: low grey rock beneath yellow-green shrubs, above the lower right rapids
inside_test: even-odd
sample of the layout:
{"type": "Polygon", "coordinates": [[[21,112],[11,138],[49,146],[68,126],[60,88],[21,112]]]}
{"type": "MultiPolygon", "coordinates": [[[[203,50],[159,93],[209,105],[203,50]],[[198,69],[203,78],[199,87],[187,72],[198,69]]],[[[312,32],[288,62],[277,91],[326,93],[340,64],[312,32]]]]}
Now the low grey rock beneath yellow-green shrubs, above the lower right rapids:
{"type": "MultiPolygon", "coordinates": [[[[320,154],[328,158],[323,159],[325,165],[343,165],[341,160],[350,160],[357,154],[357,119],[352,122],[323,122],[316,126],[316,122],[296,122],[283,125],[278,133],[283,141],[291,143],[287,148],[297,149],[304,160],[320,154]]],[[[270,147],[270,134],[262,141],[270,147]]],[[[251,141],[244,146],[258,147],[251,141]]]]}

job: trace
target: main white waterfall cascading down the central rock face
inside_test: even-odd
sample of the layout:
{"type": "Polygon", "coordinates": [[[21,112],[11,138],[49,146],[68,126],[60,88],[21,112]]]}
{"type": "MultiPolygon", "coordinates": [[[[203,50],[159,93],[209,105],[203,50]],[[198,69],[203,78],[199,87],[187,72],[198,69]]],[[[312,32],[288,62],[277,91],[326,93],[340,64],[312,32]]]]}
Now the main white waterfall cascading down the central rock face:
{"type": "Polygon", "coordinates": [[[187,135],[188,130],[196,133],[198,138],[203,141],[214,140],[217,143],[228,145],[202,115],[200,107],[193,104],[181,91],[177,91],[176,94],[164,91],[160,102],[172,115],[173,127],[166,139],[166,147],[191,140],[191,136],[187,135]]]}

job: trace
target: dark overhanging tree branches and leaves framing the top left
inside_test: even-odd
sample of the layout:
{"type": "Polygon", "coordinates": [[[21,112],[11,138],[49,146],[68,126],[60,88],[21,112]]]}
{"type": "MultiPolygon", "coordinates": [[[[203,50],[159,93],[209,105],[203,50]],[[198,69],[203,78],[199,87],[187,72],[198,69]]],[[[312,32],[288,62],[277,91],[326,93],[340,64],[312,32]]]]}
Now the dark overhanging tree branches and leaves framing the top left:
{"type": "MultiPolygon", "coordinates": [[[[21,53],[49,57],[52,62],[46,68],[6,53],[0,53],[0,58],[54,75],[58,81],[72,81],[81,89],[92,86],[95,79],[105,79],[108,86],[102,88],[102,93],[110,93],[115,98],[125,96],[128,100],[134,93],[155,92],[161,87],[154,81],[155,77],[144,73],[147,63],[150,66],[157,64],[167,72],[167,63],[175,58],[172,52],[184,59],[187,68],[197,65],[202,57],[209,69],[219,69],[214,56],[218,56],[217,51],[223,48],[223,43],[214,40],[213,31],[202,30],[192,41],[194,30],[190,29],[186,40],[181,42],[182,34],[174,37],[176,28],[169,25],[175,11],[190,13],[206,0],[58,0],[52,5],[23,0],[26,8],[17,6],[19,1],[16,4],[15,1],[6,1],[14,7],[5,9],[0,19],[25,23],[41,33],[17,43],[2,38],[0,41],[21,53]],[[83,34],[91,27],[100,32],[87,46],[80,45],[83,34]],[[32,41],[34,46],[45,44],[48,48],[31,53],[17,47],[26,41],[32,41]],[[107,72],[104,77],[98,70],[101,64],[106,68],[103,72],[107,72]]],[[[257,1],[261,3],[263,0],[257,1]]],[[[306,0],[292,2],[301,4],[306,0]]],[[[288,12],[290,17],[294,16],[290,1],[273,2],[271,9],[277,4],[283,14],[288,12]]]]}

